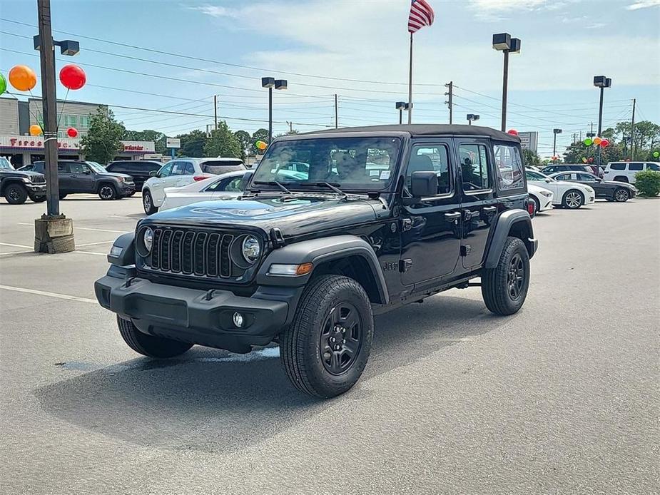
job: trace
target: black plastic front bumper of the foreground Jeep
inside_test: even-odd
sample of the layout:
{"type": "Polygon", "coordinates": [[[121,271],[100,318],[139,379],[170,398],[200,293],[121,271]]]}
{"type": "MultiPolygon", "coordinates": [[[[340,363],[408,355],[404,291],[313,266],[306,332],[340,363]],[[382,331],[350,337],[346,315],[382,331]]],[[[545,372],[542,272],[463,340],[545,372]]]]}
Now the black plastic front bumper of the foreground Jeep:
{"type": "Polygon", "coordinates": [[[101,306],[131,319],[146,334],[248,352],[250,346],[267,345],[290,321],[301,289],[273,287],[269,293],[260,287],[252,297],[240,297],[228,290],[211,292],[106,275],[96,281],[94,291],[101,306]],[[243,327],[234,325],[235,312],[243,315],[243,327]]]}

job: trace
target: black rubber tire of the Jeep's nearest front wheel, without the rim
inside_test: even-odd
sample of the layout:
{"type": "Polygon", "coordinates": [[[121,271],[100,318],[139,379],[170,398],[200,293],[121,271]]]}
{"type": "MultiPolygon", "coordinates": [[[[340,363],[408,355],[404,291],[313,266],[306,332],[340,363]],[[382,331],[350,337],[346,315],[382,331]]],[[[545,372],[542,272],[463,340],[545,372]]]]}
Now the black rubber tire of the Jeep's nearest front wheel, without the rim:
{"type": "Polygon", "coordinates": [[[373,314],[367,293],[355,280],[341,275],[323,275],[305,288],[293,322],[280,336],[280,355],[293,385],[306,394],[329,398],[347,392],[360,379],[371,352],[373,314]],[[323,362],[320,342],[323,324],[333,308],[342,303],[355,307],[360,318],[360,346],[352,364],[341,374],[332,374],[323,362]]]}

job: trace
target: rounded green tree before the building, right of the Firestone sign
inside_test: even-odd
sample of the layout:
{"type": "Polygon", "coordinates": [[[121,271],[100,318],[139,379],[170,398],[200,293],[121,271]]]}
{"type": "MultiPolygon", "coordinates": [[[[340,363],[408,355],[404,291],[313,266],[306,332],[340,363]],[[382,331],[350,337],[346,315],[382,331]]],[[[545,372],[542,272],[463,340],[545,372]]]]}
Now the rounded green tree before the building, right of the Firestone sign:
{"type": "Polygon", "coordinates": [[[114,113],[108,110],[108,115],[98,108],[89,120],[86,136],[80,141],[80,152],[87,160],[98,163],[108,163],[122,149],[121,139],[126,128],[118,122],[114,113]]]}

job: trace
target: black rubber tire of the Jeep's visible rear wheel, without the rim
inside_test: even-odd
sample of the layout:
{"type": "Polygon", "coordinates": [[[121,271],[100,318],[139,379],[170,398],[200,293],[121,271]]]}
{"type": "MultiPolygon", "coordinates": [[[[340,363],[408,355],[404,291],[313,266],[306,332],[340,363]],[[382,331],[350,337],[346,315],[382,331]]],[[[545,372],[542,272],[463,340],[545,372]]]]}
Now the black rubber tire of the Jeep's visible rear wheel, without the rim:
{"type": "Polygon", "coordinates": [[[529,289],[529,253],[519,238],[509,237],[504,243],[502,255],[494,268],[485,268],[481,280],[481,293],[486,307],[496,315],[513,315],[524,303],[529,289]],[[522,286],[517,297],[510,292],[510,269],[514,259],[522,262],[524,270],[522,286]]]}

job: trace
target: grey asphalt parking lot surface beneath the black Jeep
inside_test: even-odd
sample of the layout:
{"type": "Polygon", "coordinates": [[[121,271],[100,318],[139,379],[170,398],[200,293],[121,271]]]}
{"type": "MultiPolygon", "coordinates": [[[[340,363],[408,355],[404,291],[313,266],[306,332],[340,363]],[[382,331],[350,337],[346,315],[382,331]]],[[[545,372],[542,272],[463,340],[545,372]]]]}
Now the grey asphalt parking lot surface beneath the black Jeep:
{"type": "Polygon", "coordinates": [[[660,491],[660,199],[539,215],[521,312],[478,288],[377,317],[365,375],[319,402],[278,350],[150,361],[96,304],[140,195],[73,196],[78,252],[31,252],[0,202],[3,494],[660,491]]]}

